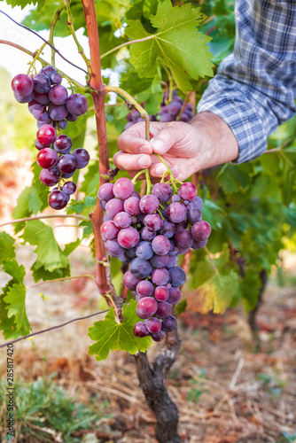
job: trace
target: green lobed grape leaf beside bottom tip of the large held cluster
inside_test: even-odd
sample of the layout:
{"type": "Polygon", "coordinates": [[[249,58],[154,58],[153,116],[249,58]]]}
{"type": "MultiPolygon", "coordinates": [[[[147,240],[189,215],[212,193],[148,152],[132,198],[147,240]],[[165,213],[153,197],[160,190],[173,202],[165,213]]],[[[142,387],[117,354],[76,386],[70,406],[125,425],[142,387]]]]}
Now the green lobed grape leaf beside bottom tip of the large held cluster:
{"type": "Polygon", "coordinates": [[[129,306],[123,306],[124,322],[117,323],[113,307],[105,316],[104,320],[94,323],[90,328],[89,336],[96,343],[90,345],[89,354],[96,354],[96,360],[105,360],[109,351],[128,351],[136,354],[138,351],[145,352],[152,345],[150,337],[138,338],[134,336],[133,329],[140,319],[136,315],[136,300],[130,300],[129,306]]]}

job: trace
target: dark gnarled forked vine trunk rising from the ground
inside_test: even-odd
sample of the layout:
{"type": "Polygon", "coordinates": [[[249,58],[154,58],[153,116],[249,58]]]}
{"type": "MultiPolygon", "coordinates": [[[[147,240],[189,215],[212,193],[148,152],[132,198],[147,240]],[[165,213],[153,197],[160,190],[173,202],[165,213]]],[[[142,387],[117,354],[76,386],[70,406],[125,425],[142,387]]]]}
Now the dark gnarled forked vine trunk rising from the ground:
{"type": "Polygon", "coordinates": [[[168,333],[166,346],[155,358],[152,367],[146,353],[135,355],[137,377],[149,408],[156,417],[155,437],[160,443],[182,441],[177,431],[178,408],[171,400],[166,386],[167,372],[176,359],[181,342],[177,330],[168,333]]]}

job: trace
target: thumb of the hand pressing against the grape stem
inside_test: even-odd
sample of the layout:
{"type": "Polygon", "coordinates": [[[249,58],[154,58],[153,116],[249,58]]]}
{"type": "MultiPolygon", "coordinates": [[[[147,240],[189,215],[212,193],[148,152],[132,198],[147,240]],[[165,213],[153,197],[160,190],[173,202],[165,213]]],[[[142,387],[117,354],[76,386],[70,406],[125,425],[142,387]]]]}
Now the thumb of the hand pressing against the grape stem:
{"type": "Polygon", "coordinates": [[[183,136],[183,123],[178,121],[169,123],[166,128],[161,129],[156,136],[153,136],[152,140],[150,141],[152,150],[156,154],[163,155],[174,144],[177,144],[180,140],[182,140],[183,136]]]}

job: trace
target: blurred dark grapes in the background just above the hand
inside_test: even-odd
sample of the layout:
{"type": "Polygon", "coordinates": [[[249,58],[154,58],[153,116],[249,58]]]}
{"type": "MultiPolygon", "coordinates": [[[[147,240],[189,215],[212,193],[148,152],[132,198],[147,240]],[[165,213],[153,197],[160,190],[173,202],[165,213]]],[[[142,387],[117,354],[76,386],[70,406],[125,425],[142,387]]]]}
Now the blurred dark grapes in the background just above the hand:
{"type": "MultiPolygon", "coordinates": [[[[193,117],[193,109],[190,103],[186,103],[183,109],[183,98],[177,95],[175,89],[172,92],[172,101],[168,105],[165,103],[166,94],[163,95],[163,101],[160,104],[160,112],[157,115],[152,114],[150,116],[151,121],[160,121],[160,122],[168,122],[168,121],[185,121],[188,122],[193,117]],[[183,109],[183,112],[181,113],[183,109]],[[181,113],[181,115],[180,115],[181,113]],[[180,117],[179,117],[180,116],[180,117]]],[[[127,115],[128,123],[125,125],[125,129],[130,128],[135,125],[138,121],[144,121],[138,111],[133,109],[127,115]]]]}

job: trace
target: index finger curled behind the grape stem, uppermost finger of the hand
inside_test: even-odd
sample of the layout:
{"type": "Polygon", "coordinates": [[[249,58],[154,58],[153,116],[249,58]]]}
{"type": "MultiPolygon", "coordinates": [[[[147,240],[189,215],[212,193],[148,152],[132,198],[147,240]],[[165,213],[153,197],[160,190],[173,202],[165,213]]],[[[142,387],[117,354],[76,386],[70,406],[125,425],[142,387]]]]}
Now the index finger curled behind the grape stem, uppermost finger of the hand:
{"type": "MultiPolygon", "coordinates": [[[[155,136],[167,123],[152,122],[150,125],[150,136],[155,136]]],[[[118,147],[123,152],[130,154],[151,154],[152,145],[145,140],[145,124],[144,121],[136,123],[131,128],[126,129],[119,136],[117,141],[118,147]]]]}

